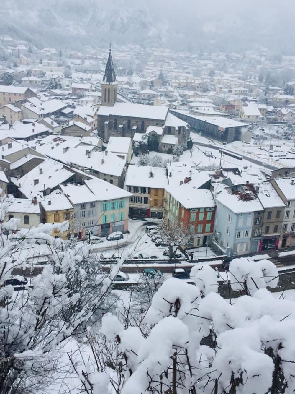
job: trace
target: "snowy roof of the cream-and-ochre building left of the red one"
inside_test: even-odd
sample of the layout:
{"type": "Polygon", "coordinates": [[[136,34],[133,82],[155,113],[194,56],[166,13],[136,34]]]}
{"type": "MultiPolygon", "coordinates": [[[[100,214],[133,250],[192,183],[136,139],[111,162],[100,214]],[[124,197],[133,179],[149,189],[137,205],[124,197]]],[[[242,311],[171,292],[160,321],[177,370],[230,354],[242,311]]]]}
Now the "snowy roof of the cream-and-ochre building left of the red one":
{"type": "Polygon", "coordinates": [[[126,173],[126,186],[164,189],[168,186],[167,170],[164,167],[149,165],[129,165],[126,173]]]}

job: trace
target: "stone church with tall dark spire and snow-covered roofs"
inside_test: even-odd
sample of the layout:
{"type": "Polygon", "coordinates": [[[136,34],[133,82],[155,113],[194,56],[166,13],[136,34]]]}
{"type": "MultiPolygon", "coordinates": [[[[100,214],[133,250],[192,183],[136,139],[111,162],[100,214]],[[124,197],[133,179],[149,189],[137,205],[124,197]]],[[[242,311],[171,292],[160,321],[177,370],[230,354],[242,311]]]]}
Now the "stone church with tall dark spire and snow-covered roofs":
{"type": "Polygon", "coordinates": [[[190,135],[188,123],[172,115],[169,108],[118,102],[117,95],[118,82],[110,49],[101,83],[98,134],[104,141],[109,141],[111,136],[133,139],[136,133],[157,136],[161,152],[175,145],[186,146],[190,135]]]}

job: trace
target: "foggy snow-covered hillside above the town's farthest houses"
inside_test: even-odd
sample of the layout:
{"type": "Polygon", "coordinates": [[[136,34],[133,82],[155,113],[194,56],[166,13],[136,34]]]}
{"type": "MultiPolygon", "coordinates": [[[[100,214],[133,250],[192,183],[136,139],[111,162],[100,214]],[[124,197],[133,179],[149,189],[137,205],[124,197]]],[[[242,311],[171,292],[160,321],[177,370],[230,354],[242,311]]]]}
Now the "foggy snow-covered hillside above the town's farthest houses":
{"type": "Polygon", "coordinates": [[[34,45],[140,44],[174,50],[295,54],[295,7],[273,0],[2,0],[0,34],[34,45]]]}

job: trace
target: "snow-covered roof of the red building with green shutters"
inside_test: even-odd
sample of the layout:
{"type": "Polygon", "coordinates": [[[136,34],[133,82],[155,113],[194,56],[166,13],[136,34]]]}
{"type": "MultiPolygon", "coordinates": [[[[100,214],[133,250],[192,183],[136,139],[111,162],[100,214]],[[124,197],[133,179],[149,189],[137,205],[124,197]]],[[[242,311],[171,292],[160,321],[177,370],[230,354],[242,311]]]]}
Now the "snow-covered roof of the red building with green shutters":
{"type": "Polygon", "coordinates": [[[212,208],[215,206],[211,191],[198,189],[192,181],[182,185],[169,185],[165,189],[186,209],[212,208]]]}

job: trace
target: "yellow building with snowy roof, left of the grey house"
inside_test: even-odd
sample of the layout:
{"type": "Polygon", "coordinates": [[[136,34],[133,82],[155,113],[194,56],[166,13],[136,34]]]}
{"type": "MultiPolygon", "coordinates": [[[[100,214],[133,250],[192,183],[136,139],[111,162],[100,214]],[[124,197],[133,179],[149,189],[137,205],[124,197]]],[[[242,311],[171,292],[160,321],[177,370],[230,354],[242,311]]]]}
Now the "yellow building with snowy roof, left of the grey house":
{"type": "Polygon", "coordinates": [[[73,206],[61,190],[52,191],[45,196],[41,208],[43,223],[69,222],[68,230],[62,233],[59,230],[54,230],[53,237],[66,239],[68,234],[73,232],[73,206]]]}

